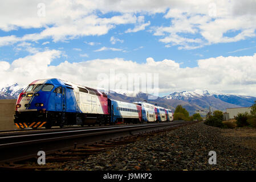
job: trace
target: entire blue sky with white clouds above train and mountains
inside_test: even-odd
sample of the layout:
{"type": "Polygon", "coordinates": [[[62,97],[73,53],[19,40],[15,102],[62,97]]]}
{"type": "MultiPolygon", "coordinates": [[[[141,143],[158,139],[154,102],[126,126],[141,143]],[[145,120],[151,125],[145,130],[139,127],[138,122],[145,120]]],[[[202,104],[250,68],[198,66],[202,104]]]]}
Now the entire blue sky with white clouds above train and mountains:
{"type": "Polygon", "coordinates": [[[255,96],[255,73],[245,69],[256,61],[255,1],[1,3],[0,66],[9,78],[0,86],[38,75],[97,86],[105,68],[116,68],[158,73],[160,95],[208,89],[255,96]],[[90,78],[71,74],[76,64],[90,78]]]}

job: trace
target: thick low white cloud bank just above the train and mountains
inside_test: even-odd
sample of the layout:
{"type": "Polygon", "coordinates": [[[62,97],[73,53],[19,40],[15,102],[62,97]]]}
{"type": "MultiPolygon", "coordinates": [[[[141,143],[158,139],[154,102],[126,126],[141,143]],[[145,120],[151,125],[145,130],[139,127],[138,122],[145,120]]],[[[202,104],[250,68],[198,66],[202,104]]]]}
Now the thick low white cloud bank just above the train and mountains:
{"type": "Polygon", "coordinates": [[[120,81],[123,83],[127,80],[130,73],[158,73],[161,93],[208,89],[256,96],[256,53],[253,56],[201,59],[194,68],[181,68],[174,60],[155,61],[152,57],[148,57],[145,63],[115,58],[79,63],[64,61],[59,65],[50,65],[51,61],[62,56],[61,54],[60,51],[51,50],[19,58],[11,64],[0,61],[0,77],[5,78],[0,86],[15,82],[27,85],[36,79],[58,77],[96,87],[100,82],[97,80],[100,74],[107,75],[105,82],[109,83],[110,72],[115,69],[115,83],[119,85],[120,81]],[[124,76],[123,81],[118,78],[120,74],[124,76]]]}

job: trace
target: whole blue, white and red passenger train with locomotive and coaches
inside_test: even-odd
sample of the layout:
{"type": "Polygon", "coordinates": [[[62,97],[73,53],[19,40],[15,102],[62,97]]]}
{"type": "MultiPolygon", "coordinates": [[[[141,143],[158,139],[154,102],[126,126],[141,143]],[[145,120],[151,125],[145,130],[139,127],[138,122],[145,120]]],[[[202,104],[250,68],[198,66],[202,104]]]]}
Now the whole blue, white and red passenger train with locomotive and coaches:
{"type": "Polygon", "coordinates": [[[19,129],[166,121],[173,121],[170,109],[113,100],[100,90],[59,78],[31,82],[19,94],[14,114],[19,129]]]}

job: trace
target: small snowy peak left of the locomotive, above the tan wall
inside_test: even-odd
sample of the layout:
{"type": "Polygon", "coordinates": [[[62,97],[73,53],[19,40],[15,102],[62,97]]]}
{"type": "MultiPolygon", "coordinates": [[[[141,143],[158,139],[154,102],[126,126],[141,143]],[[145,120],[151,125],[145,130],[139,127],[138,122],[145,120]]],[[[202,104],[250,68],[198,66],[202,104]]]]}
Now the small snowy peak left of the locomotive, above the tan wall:
{"type": "Polygon", "coordinates": [[[19,86],[17,83],[13,84],[11,86],[6,86],[2,89],[0,89],[0,93],[2,96],[6,98],[17,98],[19,96],[19,93],[22,92],[22,90],[25,89],[22,86],[19,86]]]}

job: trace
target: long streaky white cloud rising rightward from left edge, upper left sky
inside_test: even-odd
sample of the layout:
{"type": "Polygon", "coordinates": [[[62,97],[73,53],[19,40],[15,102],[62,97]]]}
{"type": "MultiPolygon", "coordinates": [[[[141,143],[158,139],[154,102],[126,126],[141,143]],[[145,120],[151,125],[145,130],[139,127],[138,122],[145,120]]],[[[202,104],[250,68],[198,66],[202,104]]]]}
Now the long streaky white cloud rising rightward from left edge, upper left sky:
{"type": "MultiPolygon", "coordinates": [[[[22,37],[14,35],[0,37],[0,46],[7,46],[20,41],[38,41],[40,39],[52,38],[53,42],[65,42],[76,39],[79,36],[104,35],[118,24],[135,23],[136,16],[122,14],[111,18],[99,18],[96,15],[82,16],[67,21],[59,20],[54,26],[46,27],[42,32],[26,34],[22,37]]],[[[19,20],[21,21],[21,20],[19,20]]],[[[1,28],[1,27],[0,27],[1,28]]]]}

